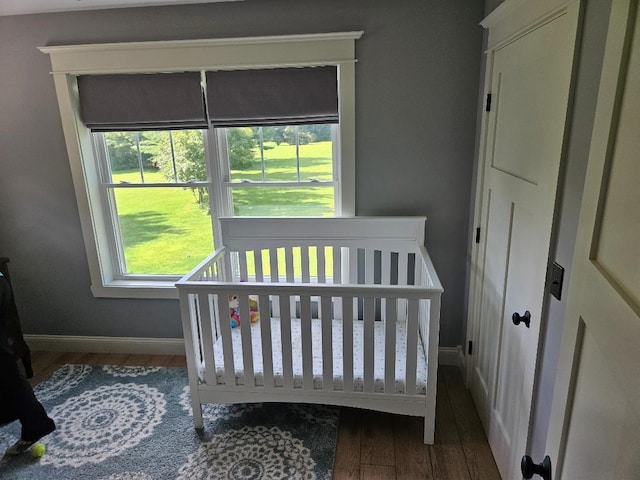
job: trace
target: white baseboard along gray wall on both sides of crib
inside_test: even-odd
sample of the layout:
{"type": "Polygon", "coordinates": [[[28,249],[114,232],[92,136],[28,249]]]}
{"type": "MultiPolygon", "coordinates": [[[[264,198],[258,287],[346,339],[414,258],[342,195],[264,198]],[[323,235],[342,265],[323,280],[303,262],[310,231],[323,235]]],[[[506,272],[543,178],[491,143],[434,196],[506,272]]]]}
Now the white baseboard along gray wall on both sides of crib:
{"type": "MultiPolygon", "coordinates": [[[[94,337],[72,335],[25,335],[29,348],[52,352],[129,353],[184,355],[182,338],[94,337]]],[[[438,363],[462,368],[462,347],[440,347],[438,363]]]]}

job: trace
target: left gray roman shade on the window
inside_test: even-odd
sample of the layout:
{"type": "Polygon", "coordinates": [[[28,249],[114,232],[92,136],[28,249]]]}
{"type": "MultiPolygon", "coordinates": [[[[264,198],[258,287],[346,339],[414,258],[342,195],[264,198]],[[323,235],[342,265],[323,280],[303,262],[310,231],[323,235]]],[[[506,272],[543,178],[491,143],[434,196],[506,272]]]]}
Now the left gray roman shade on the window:
{"type": "Polygon", "coordinates": [[[80,115],[92,131],[207,128],[200,72],[81,75],[80,115]]]}

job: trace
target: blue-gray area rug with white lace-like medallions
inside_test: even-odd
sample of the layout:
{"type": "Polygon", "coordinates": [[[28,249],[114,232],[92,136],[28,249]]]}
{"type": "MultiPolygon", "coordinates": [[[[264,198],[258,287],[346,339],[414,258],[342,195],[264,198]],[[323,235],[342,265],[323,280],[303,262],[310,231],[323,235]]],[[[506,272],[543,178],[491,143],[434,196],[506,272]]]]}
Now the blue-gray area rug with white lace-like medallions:
{"type": "MultiPolygon", "coordinates": [[[[35,393],[57,430],[46,453],[0,460],[3,479],[329,479],[339,410],[303,404],[204,407],[194,429],[183,368],[65,365],[35,393]]],[[[0,454],[20,424],[0,428],[0,454]]]]}

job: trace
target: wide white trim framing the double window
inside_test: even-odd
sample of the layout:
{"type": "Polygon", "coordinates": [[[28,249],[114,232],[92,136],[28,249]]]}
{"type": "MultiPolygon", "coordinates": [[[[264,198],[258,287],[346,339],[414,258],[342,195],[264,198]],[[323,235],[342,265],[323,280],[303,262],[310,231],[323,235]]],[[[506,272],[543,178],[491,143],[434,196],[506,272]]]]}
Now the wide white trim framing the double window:
{"type": "Polygon", "coordinates": [[[105,218],[91,132],[79,117],[76,75],[337,65],[340,142],[334,148],[339,149],[341,159],[337,202],[342,215],[355,215],[355,40],[362,33],[39,47],[51,60],[93,295],[177,298],[174,281],[115,277],[110,219],[105,218]]]}

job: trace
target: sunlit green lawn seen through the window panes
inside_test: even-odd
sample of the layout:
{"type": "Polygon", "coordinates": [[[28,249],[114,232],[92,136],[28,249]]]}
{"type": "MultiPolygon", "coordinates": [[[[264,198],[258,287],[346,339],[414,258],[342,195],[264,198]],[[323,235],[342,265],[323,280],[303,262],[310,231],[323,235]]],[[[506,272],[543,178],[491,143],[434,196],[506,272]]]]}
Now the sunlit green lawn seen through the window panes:
{"type": "MultiPolygon", "coordinates": [[[[300,146],[301,180],[331,180],[331,143],[300,146]]],[[[265,150],[267,181],[296,180],[295,146],[265,150]]],[[[259,167],[260,162],[256,162],[259,167]]],[[[232,181],[262,179],[261,169],[232,171],[232,181]]],[[[139,182],[140,174],[113,174],[113,182],[139,182]]],[[[161,173],[145,171],[145,182],[165,182],[161,173]]],[[[213,251],[211,217],[192,189],[115,189],[118,217],[129,274],[184,274],[213,251]]],[[[331,216],[331,187],[233,188],[234,213],[242,216],[331,216]]]]}

